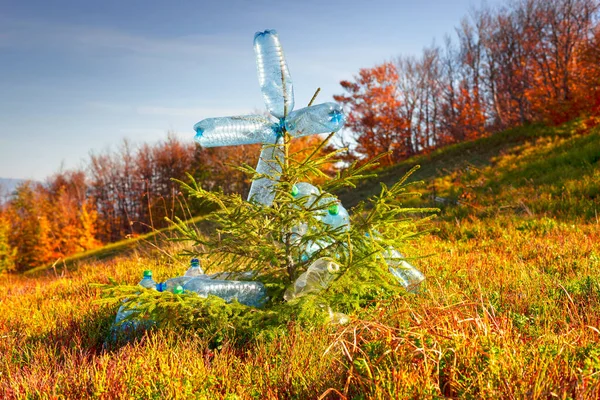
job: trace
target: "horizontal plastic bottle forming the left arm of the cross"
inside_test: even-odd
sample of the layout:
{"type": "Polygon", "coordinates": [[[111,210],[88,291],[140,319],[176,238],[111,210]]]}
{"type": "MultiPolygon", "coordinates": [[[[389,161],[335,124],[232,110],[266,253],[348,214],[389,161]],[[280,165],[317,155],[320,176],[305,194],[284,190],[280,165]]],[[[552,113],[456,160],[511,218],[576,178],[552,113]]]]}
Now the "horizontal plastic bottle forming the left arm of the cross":
{"type": "Polygon", "coordinates": [[[276,126],[262,115],[206,118],[194,125],[194,140],[202,147],[275,143],[276,126]]]}

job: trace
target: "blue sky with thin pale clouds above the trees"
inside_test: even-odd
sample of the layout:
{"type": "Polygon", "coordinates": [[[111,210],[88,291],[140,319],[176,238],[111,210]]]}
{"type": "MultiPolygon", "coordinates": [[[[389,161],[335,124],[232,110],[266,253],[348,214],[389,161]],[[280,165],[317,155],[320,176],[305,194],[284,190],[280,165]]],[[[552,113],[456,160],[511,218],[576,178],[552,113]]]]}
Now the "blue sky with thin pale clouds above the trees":
{"type": "Polygon", "coordinates": [[[279,32],[300,108],[317,87],[331,101],[360,68],[442,43],[479,5],[0,0],[0,177],[43,180],[124,138],[192,141],[201,119],[262,111],[256,31],[279,32]]]}

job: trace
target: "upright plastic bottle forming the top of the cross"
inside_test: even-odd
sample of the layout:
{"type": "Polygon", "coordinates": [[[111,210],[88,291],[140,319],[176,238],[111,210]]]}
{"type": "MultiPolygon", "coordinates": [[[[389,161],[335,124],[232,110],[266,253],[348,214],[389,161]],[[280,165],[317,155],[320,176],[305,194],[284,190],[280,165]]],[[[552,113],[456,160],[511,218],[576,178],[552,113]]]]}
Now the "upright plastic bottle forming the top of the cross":
{"type": "Polygon", "coordinates": [[[267,110],[283,118],[294,109],[294,86],[275,30],[256,32],[254,53],[258,83],[267,110]]]}

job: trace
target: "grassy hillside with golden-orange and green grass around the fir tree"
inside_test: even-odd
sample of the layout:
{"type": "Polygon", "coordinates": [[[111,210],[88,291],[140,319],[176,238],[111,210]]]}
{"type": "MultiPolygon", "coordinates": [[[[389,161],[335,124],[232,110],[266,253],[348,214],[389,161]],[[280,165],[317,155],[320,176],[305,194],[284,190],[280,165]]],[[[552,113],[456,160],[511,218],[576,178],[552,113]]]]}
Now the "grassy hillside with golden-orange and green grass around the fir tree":
{"type": "Polygon", "coordinates": [[[346,326],[290,322],[244,346],[157,331],[105,347],[116,309],[89,284],[182,272],[174,245],[0,277],[0,397],[599,398],[599,159],[600,129],[578,122],[380,171],[390,184],[422,165],[420,204],[442,207],[437,232],[404,249],[428,279],[346,326]]]}

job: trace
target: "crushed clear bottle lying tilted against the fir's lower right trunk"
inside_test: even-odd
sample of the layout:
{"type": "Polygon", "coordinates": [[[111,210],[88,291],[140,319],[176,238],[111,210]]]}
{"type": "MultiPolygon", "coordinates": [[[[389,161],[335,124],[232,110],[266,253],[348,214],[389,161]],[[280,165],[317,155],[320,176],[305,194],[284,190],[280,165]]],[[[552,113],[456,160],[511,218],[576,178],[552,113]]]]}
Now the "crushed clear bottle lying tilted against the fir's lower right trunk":
{"type": "Polygon", "coordinates": [[[319,258],[287,288],[283,298],[290,301],[307,294],[319,293],[329,287],[339,271],[340,266],[336,262],[319,258]]]}

